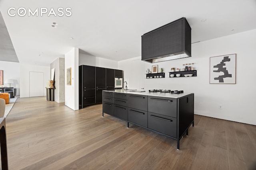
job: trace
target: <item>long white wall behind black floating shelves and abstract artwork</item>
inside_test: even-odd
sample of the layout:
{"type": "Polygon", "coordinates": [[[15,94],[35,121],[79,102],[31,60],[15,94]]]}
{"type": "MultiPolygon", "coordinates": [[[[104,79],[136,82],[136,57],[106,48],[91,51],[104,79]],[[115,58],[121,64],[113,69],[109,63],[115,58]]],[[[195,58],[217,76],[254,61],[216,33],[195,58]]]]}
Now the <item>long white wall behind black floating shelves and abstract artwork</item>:
{"type": "MultiPolygon", "coordinates": [[[[124,81],[132,82],[145,77],[152,65],[164,68],[165,78],[144,80],[145,89],[170,89],[194,92],[195,114],[256,125],[256,29],[209,41],[192,44],[192,57],[150,64],[140,62],[144,72],[132,74],[132,61],[140,57],[119,61],[118,69],[124,70],[124,81]],[[210,57],[236,53],[236,84],[209,84],[210,57]],[[195,63],[197,77],[169,78],[170,68],[195,63]],[[222,109],[219,109],[219,105],[222,109]]],[[[128,88],[130,88],[128,86],[128,88]]],[[[140,86],[131,87],[140,88],[140,86]]]]}

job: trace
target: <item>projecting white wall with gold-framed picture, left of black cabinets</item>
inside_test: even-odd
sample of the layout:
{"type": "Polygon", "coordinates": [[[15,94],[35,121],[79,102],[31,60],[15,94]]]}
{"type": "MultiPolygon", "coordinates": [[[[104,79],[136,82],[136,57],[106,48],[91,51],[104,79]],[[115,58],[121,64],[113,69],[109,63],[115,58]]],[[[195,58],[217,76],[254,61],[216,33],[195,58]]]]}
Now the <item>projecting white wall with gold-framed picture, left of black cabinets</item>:
{"type": "Polygon", "coordinates": [[[79,109],[78,95],[78,48],[65,54],[65,105],[73,110],[79,109]],[[71,85],[66,85],[67,68],[71,68],[71,85]]]}

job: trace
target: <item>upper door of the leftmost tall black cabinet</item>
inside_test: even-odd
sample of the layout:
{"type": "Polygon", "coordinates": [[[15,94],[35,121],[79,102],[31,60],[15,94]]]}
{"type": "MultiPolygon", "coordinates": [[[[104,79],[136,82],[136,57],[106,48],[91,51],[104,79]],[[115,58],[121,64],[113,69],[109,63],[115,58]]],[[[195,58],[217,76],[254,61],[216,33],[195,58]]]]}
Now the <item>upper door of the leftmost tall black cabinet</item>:
{"type": "Polygon", "coordinates": [[[83,88],[95,88],[95,67],[83,66],[83,88]]]}

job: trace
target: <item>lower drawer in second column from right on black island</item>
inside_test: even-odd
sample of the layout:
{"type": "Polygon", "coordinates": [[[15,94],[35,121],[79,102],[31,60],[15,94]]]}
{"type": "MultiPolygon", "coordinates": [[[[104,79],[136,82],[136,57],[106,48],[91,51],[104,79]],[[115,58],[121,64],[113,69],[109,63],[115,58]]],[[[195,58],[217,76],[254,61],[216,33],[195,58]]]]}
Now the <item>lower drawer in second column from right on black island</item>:
{"type": "Polygon", "coordinates": [[[148,127],[148,112],[128,108],[128,121],[144,127],[148,127]]]}

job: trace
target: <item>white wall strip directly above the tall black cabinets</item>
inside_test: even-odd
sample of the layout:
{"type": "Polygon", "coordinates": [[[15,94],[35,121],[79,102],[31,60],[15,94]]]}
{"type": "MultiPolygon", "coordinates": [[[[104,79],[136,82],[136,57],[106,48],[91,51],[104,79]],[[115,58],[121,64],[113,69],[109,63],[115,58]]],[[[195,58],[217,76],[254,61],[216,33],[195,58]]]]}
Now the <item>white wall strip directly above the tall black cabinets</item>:
{"type": "Polygon", "coordinates": [[[79,65],[88,65],[88,66],[96,66],[96,67],[104,67],[104,68],[118,68],[118,62],[114,60],[103,59],[100,57],[94,57],[91,55],[86,55],[83,53],[79,53],[79,65]]]}

